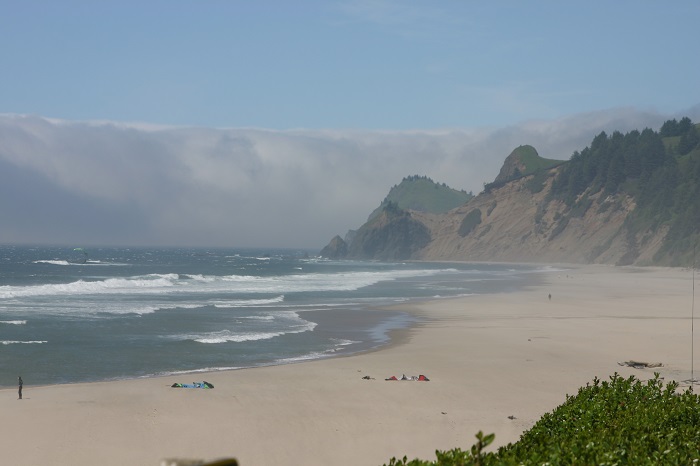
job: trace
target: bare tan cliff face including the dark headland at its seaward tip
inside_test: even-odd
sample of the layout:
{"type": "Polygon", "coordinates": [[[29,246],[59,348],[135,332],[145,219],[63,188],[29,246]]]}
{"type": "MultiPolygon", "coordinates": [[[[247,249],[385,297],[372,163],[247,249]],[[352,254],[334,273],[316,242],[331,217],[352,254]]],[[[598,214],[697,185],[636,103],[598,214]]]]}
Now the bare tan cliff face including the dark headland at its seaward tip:
{"type": "Polygon", "coordinates": [[[330,258],[652,265],[667,229],[632,234],[634,200],[590,189],[567,206],[550,196],[561,167],[485,190],[445,214],[395,208],[363,225],[330,258]],[[535,178],[536,177],[536,178],[535,178]]]}

